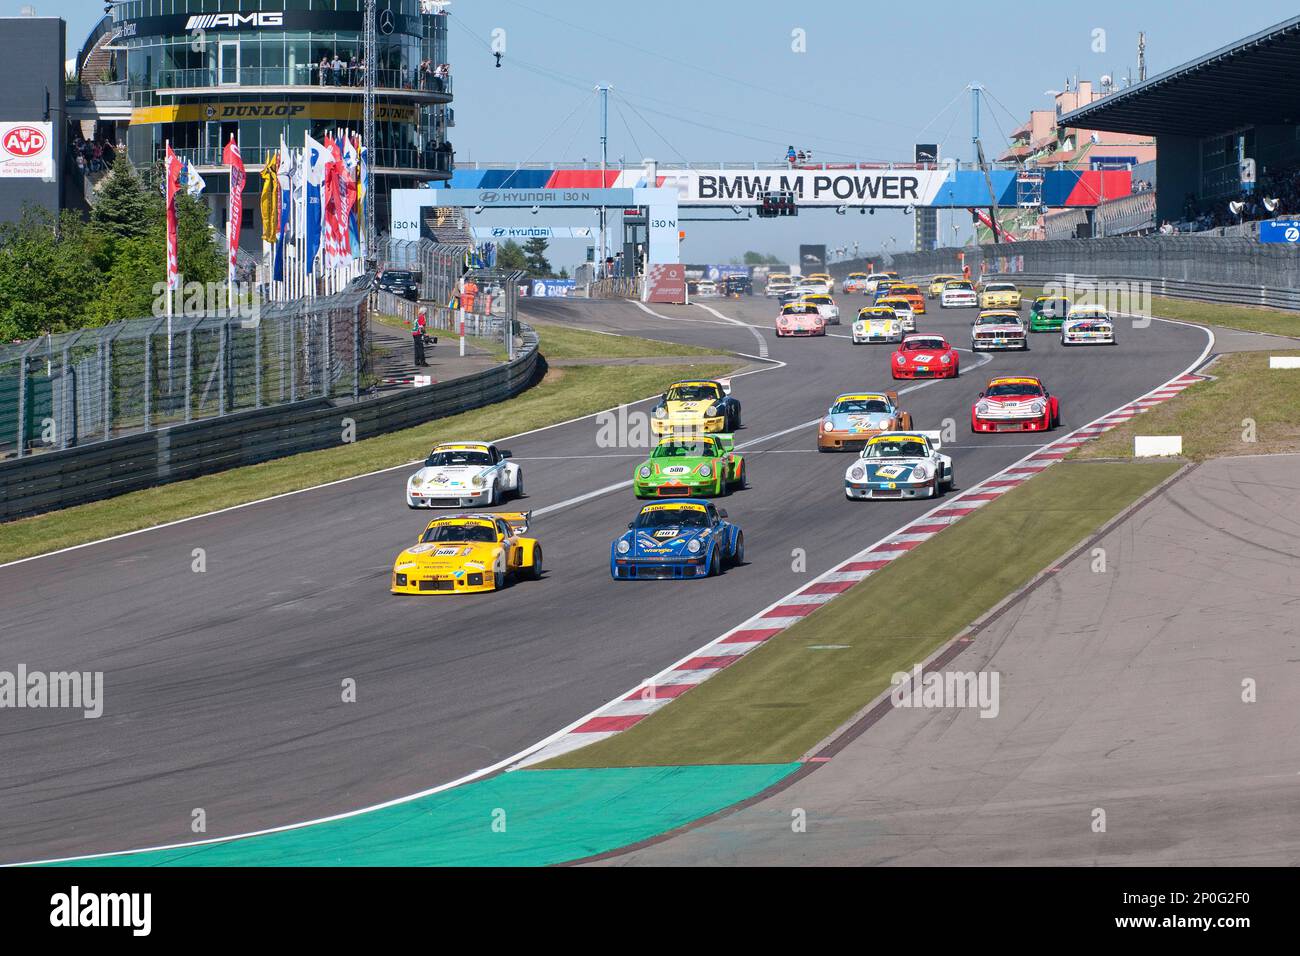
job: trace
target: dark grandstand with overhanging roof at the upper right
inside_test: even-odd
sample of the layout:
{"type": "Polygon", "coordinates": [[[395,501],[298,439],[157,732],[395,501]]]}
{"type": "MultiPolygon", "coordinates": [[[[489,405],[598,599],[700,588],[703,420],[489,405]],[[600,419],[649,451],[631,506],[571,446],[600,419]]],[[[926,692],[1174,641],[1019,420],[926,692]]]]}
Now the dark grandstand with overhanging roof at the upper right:
{"type": "MultiPolygon", "coordinates": [[[[1166,232],[1300,215],[1300,17],[1065,113],[1058,125],[1154,135],[1154,220],[1166,232]],[[1254,160],[1253,189],[1242,182],[1242,159],[1254,160]],[[1265,198],[1279,202],[1269,209],[1265,198]]],[[[1124,226],[1141,217],[1128,212],[1124,226]]]]}

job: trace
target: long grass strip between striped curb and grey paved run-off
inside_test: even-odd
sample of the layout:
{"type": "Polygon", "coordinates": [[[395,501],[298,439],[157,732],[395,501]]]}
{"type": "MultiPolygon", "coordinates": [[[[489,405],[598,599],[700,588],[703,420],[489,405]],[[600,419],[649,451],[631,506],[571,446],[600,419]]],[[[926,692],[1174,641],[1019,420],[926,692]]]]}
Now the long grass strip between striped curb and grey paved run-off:
{"type": "Polygon", "coordinates": [[[798,760],[887,691],[894,672],[924,661],[1179,467],[1174,462],[1054,466],[889,563],[671,706],[541,766],[798,760]]]}

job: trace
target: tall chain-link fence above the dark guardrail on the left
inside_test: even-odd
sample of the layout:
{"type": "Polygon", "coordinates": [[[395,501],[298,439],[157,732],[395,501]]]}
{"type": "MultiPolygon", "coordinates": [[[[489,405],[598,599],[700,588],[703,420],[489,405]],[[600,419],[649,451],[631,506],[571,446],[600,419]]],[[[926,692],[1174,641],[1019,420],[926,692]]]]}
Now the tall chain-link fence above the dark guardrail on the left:
{"type": "Polygon", "coordinates": [[[0,458],[368,388],[369,278],[326,298],[133,319],[0,347],[0,458]],[[242,313],[240,313],[242,312],[242,313]]]}

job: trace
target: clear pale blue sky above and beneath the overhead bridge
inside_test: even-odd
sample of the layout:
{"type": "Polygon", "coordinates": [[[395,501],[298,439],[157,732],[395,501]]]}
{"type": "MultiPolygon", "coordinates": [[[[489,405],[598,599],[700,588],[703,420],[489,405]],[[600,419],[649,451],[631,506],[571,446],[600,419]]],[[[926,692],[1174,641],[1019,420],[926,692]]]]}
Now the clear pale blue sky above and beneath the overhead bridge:
{"type": "MultiPolygon", "coordinates": [[[[69,56],[103,14],[103,3],[90,0],[30,3],[38,14],[68,21],[69,56]]],[[[21,7],[0,0],[4,14],[21,7]]],[[[971,111],[963,87],[971,81],[996,99],[983,124],[996,151],[1031,108],[1050,105],[1044,91],[1067,78],[1136,75],[1139,30],[1154,74],[1296,13],[1283,0],[452,0],[450,10],[458,159],[598,159],[593,87],[607,82],[615,91],[608,152],[629,164],[646,155],[777,160],[788,144],[827,161],[907,160],[914,143],[935,140],[942,155],[965,160],[971,111]],[[506,44],[500,69],[489,49],[498,29],[506,44]],[[792,49],[794,30],[806,36],[803,53],[792,49]],[[1105,31],[1105,52],[1093,52],[1095,30],[1105,31]]],[[[517,220],[503,216],[485,215],[485,224],[517,220]]],[[[909,247],[913,235],[900,212],[819,211],[685,229],[689,261],[728,261],[746,248],[790,258],[800,242],[857,241],[874,250],[889,235],[909,247]]],[[[952,234],[946,213],[941,229],[952,234]]],[[[556,267],[580,255],[576,243],[555,252],[556,267]]]]}

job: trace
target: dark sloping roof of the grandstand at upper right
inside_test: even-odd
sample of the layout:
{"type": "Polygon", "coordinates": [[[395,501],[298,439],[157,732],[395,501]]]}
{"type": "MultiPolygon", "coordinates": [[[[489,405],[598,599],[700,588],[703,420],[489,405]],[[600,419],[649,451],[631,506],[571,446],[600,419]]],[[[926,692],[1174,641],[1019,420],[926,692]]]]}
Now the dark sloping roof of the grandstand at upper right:
{"type": "Polygon", "coordinates": [[[1066,113],[1061,126],[1205,137],[1300,122],[1300,17],[1066,113]]]}

